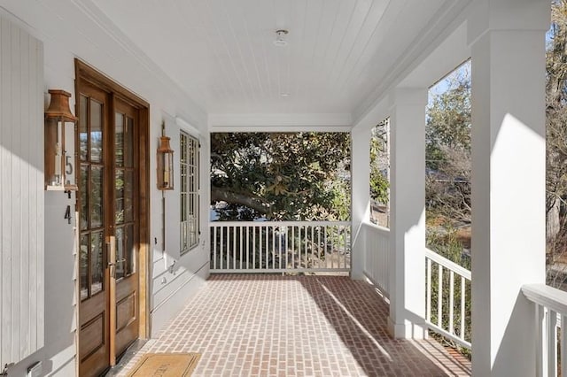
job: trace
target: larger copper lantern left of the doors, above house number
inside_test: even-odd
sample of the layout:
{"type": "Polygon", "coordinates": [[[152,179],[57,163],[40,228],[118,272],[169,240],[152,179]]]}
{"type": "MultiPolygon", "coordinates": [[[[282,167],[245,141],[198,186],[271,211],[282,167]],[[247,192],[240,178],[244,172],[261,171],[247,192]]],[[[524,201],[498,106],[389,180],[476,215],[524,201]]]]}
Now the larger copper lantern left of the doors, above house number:
{"type": "Polygon", "coordinates": [[[69,109],[71,94],[50,89],[50,106],[45,112],[45,189],[77,190],[75,181],[75,123],[69,109]]]}

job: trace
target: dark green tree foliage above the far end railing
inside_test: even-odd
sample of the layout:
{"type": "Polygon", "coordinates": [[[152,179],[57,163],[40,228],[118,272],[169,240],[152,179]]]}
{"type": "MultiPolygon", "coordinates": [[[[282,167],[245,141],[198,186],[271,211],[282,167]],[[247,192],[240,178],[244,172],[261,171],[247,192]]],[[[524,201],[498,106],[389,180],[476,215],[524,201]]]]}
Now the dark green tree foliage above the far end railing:
{"type": "Polygon", "coordinates": [[[348,219],[347,133],[211,135],[211,194],[221,220],[348,219]]]}

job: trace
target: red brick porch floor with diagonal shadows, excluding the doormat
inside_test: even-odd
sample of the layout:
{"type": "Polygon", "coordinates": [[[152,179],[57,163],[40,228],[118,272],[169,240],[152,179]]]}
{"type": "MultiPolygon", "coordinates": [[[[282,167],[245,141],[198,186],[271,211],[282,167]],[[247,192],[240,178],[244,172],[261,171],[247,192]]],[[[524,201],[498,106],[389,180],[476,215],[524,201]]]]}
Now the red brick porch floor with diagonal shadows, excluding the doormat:
{"type": "Polygon", "coordinates": [[[434,340],[387,335],[388,306],[341,276],[213,275],[144,352],[199,352],[194,376],[470,375],[434,340]]]}

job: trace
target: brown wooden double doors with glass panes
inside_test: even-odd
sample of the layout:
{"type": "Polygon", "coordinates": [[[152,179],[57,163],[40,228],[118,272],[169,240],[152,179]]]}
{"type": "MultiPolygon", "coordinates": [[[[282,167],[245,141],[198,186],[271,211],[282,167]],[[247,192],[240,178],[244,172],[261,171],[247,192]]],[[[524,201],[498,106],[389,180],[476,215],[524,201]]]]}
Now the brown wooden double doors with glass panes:
{"type": "Polygon", "coordinates": [[[97,376],[139,335],[139,111],[79,86],[79,373],[97,376]]]}

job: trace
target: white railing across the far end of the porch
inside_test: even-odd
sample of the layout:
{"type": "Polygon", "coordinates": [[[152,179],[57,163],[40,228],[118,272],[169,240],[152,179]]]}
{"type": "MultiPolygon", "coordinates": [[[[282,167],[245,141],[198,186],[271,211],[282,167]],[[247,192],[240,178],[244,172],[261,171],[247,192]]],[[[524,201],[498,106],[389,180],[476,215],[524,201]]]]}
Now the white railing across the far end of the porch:
{"type": "Polygon", "coordinates": [[[350,272],[350,221],[218,221],[211,273],[350,272]]]}

